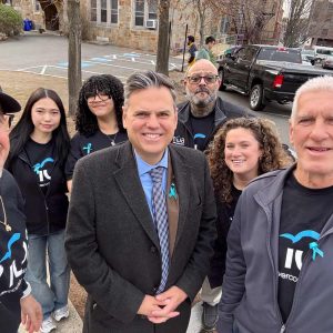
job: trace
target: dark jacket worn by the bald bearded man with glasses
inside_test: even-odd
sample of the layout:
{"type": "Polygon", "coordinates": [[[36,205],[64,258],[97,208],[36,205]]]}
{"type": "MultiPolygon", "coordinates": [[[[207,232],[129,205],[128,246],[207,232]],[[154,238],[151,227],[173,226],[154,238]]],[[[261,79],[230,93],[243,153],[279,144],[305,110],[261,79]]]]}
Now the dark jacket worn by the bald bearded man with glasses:
{"type": "MultiPolygon", "coordinates": [[[[174,132],[172,143],[178,145],[184,145],[189,148],[194,148],[194,139],[191,130],[190,114],[191,114],[191,103],[184,102],[178,105],[178,125],[174,132]]],[[[209,143],[214,138],[215,132],[219,130],[224,122],[232,118],[240,117],[253,117],[245,109],[238,105],[223,101],[218,97],[214,105],[214,129],[211,134],[208,135],[204,143],[204,150],[208,148],[209,143]]]]}

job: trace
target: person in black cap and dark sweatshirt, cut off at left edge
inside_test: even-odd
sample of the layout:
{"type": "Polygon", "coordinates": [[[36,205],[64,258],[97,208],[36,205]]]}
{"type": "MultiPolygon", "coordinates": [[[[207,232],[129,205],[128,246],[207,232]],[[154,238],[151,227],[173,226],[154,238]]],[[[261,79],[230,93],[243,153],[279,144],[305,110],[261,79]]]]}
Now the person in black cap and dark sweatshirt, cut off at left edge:
{"type": "Polygon", "coordinates": [[[13,176],[3,170],[9,154],[9,132],[20,104],[0,89],[0,331],[17,333],[20,322],[29,332],[38,332],[41,306],[24,280],[28,240],[23,199],[13,176]]]}

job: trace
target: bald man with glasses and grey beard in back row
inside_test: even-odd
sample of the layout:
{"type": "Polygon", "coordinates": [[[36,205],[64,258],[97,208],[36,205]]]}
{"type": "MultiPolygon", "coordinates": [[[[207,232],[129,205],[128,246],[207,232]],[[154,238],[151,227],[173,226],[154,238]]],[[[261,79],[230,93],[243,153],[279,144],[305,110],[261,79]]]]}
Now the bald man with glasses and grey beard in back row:
{"type": "Polygon", "coordinates": [[[178,105],[174,144],[204,151],[226,120],[246,115],[244,109],[218,95],[220,84],[218,69],[209,60],[198,60],[188,69],[184,78],[188,101],[178,105]]]}

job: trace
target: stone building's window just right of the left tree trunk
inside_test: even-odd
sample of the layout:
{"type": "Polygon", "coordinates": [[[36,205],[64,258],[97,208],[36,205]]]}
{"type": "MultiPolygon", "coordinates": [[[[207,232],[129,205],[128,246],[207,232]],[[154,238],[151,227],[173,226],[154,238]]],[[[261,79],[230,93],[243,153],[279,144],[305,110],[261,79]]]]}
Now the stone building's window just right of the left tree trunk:
{"type": "Polygon", "coordinates": [[[119,0],[90,0],[90,21],[103,24],[118,23],[119,0]]]}

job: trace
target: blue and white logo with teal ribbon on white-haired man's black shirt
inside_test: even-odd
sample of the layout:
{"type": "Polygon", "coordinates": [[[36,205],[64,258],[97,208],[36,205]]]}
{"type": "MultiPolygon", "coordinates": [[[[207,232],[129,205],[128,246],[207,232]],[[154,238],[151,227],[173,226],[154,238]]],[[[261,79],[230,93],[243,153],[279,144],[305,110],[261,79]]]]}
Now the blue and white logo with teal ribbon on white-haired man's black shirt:
{"type": "MultiPolygon", "coordinates": [[[[314,241],[309,243],[309,249],[312,251],[312,260],[315,261],[317,255],[320,255],[321,258],[324,256],[324,252],[319,248],[319,244],[316,242],[320,239],[320,234],[313,230],[304,230],[299,232],[296,235],[293,235],[291,233],[283,233],[280,236],[290,240],[293,244],[300,242],[304,238],[312,239],[314,241]]],[[[300,250],[295,251],[295,263],[299,270],[302,269],[302,255],[303,255],[303,251],[300,250]]],[[[287,248],[285,264],[284,264],[286,269],[291,269],[293,256],[294,256],[294,249],[287,248]]]]}

